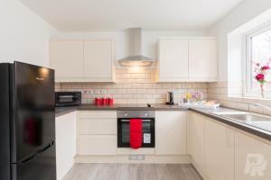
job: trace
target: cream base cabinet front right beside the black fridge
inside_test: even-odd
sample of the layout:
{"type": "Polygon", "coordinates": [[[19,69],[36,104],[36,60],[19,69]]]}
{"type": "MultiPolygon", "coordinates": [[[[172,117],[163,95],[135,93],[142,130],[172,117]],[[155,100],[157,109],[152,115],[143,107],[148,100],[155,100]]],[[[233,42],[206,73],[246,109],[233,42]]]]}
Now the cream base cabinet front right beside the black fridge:
{"type": "Polygon", "coordinates": [[[57,179],[61,180],[73,166],[76,155],[76,112],[56,118],[55,139],[57,179]]]}

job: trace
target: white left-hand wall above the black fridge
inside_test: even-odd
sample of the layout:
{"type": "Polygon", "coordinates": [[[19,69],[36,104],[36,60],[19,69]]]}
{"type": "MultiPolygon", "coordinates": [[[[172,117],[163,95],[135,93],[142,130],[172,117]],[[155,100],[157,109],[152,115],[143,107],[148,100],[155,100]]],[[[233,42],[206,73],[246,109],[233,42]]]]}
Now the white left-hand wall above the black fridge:
{"type": "Polygon", "coordinates": [[[0,0],[0,62],[19,60],[48,67],[55,30],[19,0],[0,0]]]}

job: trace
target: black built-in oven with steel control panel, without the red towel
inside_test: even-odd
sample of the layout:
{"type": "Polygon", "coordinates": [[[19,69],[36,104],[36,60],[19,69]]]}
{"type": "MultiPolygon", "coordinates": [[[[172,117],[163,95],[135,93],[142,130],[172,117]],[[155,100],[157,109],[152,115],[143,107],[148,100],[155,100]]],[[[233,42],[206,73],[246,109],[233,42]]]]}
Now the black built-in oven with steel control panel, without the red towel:
{"type": "Polygon", "coordinates": [[[130,120],[142,120],[142,148],[155,147],[154,111],[117,111],[117,147],[130,147],[130,120]]]}

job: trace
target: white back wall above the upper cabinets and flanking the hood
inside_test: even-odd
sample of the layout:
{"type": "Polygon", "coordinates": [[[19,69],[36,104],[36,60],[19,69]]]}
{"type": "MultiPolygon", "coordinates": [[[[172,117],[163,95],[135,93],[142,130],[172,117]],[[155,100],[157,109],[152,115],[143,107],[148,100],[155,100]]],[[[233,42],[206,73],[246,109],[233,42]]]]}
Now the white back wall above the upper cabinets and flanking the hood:
{"type": "MultiPolygon", "coordinates": [[[[156,42],[159,37],[205,36],[204,31],[143,31],[143,55],[156,59],[156,42]]],[[[116,42],[116,59],[125,58],[129,52],[129,36],[126,31],[58,32],[52,40],[112,39],[116,42]]]]}

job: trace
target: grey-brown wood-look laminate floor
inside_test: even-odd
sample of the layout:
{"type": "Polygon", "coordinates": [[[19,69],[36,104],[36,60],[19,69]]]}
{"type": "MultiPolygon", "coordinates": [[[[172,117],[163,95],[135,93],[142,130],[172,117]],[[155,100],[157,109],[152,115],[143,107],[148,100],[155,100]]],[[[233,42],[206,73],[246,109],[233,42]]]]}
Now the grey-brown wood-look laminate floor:
{"type": "Polygon", "coordinates": [[[75,164],[63,180],[202,180],[192,165],[75,164]]]}

